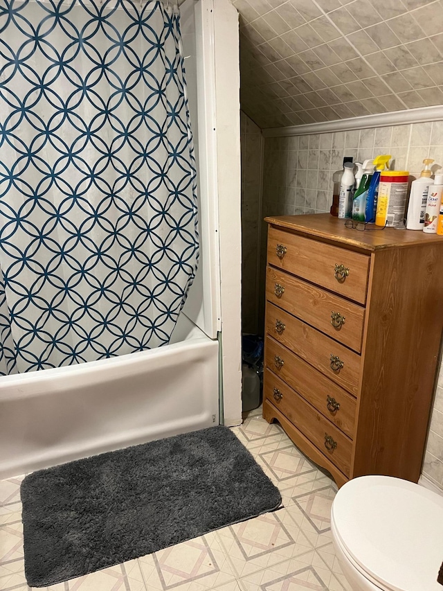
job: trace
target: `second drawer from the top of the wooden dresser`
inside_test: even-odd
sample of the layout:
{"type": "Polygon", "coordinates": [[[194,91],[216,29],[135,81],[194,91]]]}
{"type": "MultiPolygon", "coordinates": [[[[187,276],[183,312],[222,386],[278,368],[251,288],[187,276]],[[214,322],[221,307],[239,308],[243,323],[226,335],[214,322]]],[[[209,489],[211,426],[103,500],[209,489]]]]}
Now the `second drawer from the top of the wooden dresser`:
{"type": "Polygon", "coordinates": [[[360,353],[365,309],[358,304],[269,265],[266,299],[360,353]]]}

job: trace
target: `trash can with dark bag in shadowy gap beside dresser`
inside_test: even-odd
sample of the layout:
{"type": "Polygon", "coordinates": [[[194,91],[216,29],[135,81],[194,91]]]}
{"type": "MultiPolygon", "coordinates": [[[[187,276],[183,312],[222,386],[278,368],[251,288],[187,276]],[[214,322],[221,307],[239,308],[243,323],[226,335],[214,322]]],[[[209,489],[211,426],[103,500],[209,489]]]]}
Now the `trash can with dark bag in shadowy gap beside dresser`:
{"type": "Polygon", "coordinates": [[[248,412],[260,406],[263,384],[263,338],[259,335],[242,337],[242,410],[248,412]]]}

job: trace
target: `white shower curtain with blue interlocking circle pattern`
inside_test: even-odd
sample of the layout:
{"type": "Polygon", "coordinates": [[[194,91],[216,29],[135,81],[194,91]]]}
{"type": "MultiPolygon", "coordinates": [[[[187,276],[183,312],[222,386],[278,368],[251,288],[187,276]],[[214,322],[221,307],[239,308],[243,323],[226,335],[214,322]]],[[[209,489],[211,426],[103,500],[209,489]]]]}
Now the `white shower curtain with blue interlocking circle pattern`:
{"type": "Polygon", "coordinates": [[[197,261],[179,15],[0,0],[0,373],[168,344],[197,261]]]}

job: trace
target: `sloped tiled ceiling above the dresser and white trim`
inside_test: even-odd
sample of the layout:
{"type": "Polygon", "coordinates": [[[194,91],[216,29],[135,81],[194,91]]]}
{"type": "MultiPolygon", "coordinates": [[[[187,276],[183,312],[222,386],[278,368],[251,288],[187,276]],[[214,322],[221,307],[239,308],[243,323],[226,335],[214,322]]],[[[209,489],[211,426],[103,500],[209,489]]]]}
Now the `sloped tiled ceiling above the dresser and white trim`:
{"type": "Polygon", "coordinates": [[[443,103],[443,0],[232,0],[262,127],[443,103]]]}

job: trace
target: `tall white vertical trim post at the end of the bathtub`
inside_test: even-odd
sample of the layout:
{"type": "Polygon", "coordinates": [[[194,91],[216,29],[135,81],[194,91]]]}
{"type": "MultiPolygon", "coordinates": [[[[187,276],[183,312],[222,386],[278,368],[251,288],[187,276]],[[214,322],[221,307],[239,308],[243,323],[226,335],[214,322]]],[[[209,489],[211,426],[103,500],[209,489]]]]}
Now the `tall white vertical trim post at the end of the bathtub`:
{"type": "MultiPolygon", "coordinates": [[[[204,4],[207,4],[204,1],[204,4]]],[[[240,170],[239,21],[230,0],[213,7],[221,280],[224,425],[242,423],[242,177],[240,170]]]]}

